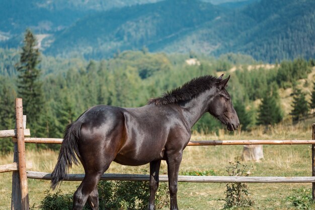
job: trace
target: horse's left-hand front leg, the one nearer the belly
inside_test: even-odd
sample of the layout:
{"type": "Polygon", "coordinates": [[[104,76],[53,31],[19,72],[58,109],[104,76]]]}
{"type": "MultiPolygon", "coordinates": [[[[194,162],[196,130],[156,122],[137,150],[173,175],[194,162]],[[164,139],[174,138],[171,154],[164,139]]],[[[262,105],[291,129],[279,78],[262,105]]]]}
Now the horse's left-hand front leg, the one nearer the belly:
{"type": "Polygon", "coordinates": [[[155,210],[155,193],[159,187],[159,172],[160,172],[161,160],[150,162],[150,197],[148,210],[155,210]]]}

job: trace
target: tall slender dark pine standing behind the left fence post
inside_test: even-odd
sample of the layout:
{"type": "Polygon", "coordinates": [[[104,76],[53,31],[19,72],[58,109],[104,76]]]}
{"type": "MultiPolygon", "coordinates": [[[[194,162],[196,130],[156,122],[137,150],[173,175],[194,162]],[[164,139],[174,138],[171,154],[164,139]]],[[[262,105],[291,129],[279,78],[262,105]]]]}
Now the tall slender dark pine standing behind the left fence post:
{"type": "Polygon", "coordinates": [[[36,133],[37,123],[44,106],[42,82],[39,80],[40,52],[36,48],[36,38],[32,32],[26,30],[24,46],[17,63],[18,70],[18,96],[23,98],[23,111],[27,115],[28,124],[36,133]]]}

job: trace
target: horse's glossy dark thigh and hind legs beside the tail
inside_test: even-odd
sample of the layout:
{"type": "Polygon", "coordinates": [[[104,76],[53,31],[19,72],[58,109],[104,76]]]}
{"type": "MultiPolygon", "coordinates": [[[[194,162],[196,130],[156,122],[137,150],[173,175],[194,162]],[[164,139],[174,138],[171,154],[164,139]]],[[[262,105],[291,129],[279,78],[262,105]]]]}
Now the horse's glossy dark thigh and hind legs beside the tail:
{"type": "MultiPolygon", "coordinates": [[[[100,117],[102,113],[94,115],[100,117]]],[[[94,115],[92,117],[95,117],[94,115]]],[[[110,113],[110,116],[112,115],[113,113],[110,113]]],[[[82,210],[87,201],[92,209],[99,209],[97,184],[115,159],[121,143],[123,130],[121,119],[114,117],[108,122],[102,120],[101,124],[98,124],[97,120],[81,127],[78,149],[86,176],[73,195],[73,210],[82,210]]]]}

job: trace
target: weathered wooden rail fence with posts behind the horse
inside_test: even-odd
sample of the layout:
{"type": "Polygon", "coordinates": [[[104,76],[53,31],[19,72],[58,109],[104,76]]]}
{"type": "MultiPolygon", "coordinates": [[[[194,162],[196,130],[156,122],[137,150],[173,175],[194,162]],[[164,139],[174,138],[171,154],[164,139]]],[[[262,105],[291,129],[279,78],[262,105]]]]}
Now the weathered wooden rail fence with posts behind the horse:
{"type": "MultiPolygon", "coordinates": [[[[16,129],[0,130],[0,137],[12,137],[14,142],[14,163],[1,165],[0,173],[12,174],[12,210],[28,210],[27,178],[50,180],[51,174],[28,171],[32,163],[26,162],[25,143],[61,144],[62,138],[32,138],[26,129],[26,116],[23,116],[22,99],[16,99],[16,129]]],[[[250,182],[250,183],[312,183],[312,198],[315,199],[315,124],[312,124],[313,140],[231,140],[231,141],[199,141],[190,142],[188,146],[219,146],[219,145],[312,145],[312,176],[309,177],[240,177],[240,176],[179,176],[180,182],[250,182]]],[[[68,174],[65,181],[81,181],[84,174],[68,174]]],[[[103,174],[101,180],[148,181],[149,175],[142,174],[103,174]]],[[[166,175],[160,175],[160,181],[168,181],[166,175]]]]}

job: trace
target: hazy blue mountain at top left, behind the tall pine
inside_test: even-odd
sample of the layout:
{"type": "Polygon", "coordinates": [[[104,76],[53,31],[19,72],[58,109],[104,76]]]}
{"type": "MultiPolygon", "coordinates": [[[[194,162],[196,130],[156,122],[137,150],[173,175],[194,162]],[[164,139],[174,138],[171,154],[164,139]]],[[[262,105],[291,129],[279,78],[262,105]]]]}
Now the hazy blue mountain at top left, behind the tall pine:
{"type": "Polygon", "coordinates": [[[2,0],[0,44],[8,47],[18,46],[27,28],[36,34],[54,35],[96,11],[157,1],[159,0],[2,0]]]}

